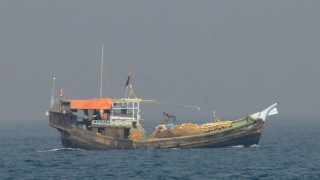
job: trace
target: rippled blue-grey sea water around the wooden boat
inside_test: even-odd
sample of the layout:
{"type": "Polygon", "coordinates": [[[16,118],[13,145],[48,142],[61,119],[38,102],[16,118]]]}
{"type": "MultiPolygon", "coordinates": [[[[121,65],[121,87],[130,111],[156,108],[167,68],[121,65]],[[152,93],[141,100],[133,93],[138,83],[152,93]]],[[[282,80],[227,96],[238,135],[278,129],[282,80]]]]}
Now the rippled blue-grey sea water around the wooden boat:
{"type": "Polygon", "coordinates": [[[320,119],[268,120],[253,147],[64,149],[47,120],[0,127],[0,179],[320,179],[320,119]]]}

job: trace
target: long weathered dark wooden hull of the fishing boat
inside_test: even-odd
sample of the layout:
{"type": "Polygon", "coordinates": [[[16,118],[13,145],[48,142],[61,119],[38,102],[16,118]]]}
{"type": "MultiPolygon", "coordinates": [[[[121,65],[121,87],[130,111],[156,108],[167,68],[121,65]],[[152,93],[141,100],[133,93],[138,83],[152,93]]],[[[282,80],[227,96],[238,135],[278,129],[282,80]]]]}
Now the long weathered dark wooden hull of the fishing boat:
{"type": "Polygon", "coordinates": [[[261,121],[250,121],[241,126],[209,133],[132,141],[95,133],[77,125],[71,114],[50,112],[50,126],[61,133],[62,146],[87,150],[111,149],[165,149],[165,148],[219,148],[228,146],[251,146],[258,144],[263,129],[261,121]]]}

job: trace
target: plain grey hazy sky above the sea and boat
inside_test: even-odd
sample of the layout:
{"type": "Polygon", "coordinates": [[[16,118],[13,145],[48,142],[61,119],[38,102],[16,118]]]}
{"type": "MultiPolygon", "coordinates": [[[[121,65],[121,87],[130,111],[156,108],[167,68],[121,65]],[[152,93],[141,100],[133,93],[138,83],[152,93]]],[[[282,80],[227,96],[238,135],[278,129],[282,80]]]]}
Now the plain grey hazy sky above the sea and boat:
{"type": "Polygon", "coordinates": [[[0,0],[0,121],[45,119],[66,98],[122,97],[129,69],[145,118],[243,116],[279,102],[320,115],[320,1],[0,0]],[[58,90],[57,90],[58,91],[58,90]],[[58,95],[58,92],[56,93],[58,95]]]}

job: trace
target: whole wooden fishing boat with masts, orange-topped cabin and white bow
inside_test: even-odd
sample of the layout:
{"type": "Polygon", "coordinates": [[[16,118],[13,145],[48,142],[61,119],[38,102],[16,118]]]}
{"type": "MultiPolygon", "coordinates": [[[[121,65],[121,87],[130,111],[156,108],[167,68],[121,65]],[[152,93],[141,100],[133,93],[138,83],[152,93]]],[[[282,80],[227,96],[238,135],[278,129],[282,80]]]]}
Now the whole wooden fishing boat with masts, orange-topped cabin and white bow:
{"type": "Polygon", "coordinates": [[[53,78],[51,108],[46,114],[49,125],[60,132],[63,147],[108,150],[251,146],[259,143],[266,118],[278,113],[278,103],[275,103],[261,112],[235,121],[211,121],[202,125],[173,125],[163,121],[162,125],[155,127],[152,135],[147,136],[140,123],[140,103],[156,102],[137,98],[129,86],[130,76],[131,72],[126,81],[124,98],[102,98],[101,81],[100,98],[63,99],[61,92],[58,101],[54,100],[53,78]]]}

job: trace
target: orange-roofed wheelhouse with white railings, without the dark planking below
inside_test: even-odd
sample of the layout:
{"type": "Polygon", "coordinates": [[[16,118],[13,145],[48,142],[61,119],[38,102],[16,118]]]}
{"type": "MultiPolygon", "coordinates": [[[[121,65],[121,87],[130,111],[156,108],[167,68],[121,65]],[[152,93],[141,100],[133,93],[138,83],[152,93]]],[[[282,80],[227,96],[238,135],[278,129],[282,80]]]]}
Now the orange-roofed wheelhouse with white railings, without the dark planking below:
{"type": "Polygon", "coordinates": [[[60,110],[77,116],[79,123],[91,126],[132,126],[140,124],[140,102],[138,98],[92,100],[61,100],[60,110]]]}

